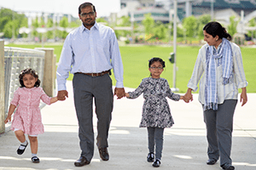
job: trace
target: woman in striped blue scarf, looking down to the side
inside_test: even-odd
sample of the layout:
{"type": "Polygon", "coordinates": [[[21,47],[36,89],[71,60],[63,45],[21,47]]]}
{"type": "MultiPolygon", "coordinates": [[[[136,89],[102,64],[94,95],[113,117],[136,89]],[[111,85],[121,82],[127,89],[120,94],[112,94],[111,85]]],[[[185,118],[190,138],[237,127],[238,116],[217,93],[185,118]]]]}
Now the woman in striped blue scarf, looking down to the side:
{"type": "Polygon", "coordinates": [[[220,157],[223,169],[233,170],[230,158],[233,116],[241,88],[241,105],[247,103],[247,81],[243,71],[241,50],[218,22],[209,22],[203,28],[207,44],[199,50],[185,99],[193,100],[191,91],[200,81],[199,101],[207,125],[208,165],[220,157]]]}

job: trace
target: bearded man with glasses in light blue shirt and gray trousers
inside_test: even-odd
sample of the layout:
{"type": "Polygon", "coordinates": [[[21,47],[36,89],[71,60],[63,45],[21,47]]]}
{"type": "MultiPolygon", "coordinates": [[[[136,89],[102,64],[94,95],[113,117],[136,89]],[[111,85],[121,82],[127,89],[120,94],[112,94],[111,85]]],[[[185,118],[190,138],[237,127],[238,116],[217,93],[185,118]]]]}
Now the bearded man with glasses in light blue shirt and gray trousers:
{"type": "Polygon", "coordinates": [[[125,95],[123,65],[114,31],[96,23],[96,8],[92,3],[79,6],[82,26],[70,32],[64,42],[57,68],[58,99],[68,97],[66,79],[69,71],[73,76],[73,94],[79,120],[81,156],[74,162],[76,167],[90,163],[94,152],[92,103],[95,100],[97,116],[96,144],[103,161],[108,161],[108,129],[113,111],[113,68],[116,79],[114,94],[118,99],[125,95]]]}

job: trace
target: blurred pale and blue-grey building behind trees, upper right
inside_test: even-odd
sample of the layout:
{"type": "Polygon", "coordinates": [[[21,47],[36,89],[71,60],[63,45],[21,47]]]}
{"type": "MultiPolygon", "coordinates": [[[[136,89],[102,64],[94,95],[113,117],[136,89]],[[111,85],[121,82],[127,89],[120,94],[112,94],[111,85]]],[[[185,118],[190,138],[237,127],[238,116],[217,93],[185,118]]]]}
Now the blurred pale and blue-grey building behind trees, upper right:
{"type": "MultiPolygon", "coordinates": [[[[134,21],[141,22],[144,14],[151,13],[155,21],[160,20],[167,23],[172,20],[173,4],[171,0],[120,0],[120,7],[118,18],[129,15],[134,17],[134,21]]],[[[190,15],[197,17],[213,12],[215,20],[228,23],[232,15],[240,18],[241,11],[244,11],[245,21],[247,21],[247,16],[250,16],[250,19],[255,17],[253,14],[255,10],[256,0],[177,0],[179,21],[190,15]],[[213,11],[211,11],[212,6],[213,11]]]]}

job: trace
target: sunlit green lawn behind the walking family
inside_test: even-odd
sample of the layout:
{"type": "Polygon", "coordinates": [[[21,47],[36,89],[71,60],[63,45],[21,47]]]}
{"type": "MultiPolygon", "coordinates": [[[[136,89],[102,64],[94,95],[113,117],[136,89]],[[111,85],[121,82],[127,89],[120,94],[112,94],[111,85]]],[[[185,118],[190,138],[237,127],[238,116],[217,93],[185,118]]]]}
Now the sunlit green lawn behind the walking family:
{"type": "MultiPolygon", "coordinates": [[[[11,47],[20,48],[40,48],[41,45],[15,45],[9,44],[11,47]]],[[[55,48],[56,60],[58,61],[61,54],[61,45],[44,45],[44,48],[55,48]]],[[[200,47],[194,46],[178,46],[177,47],[177,78],[176,87],[179,88],[179,93],[185,93],[187,83],[191,77],[195,59],[200,47]]],[[[137,88],[144,77],[149,76],[148,59],[152,57],[160,57],[166,61],[166,69],[161,77],[168,80],[172,88],[172,71],[173,65],[168,60],[172,47],[161,46],[122,46],[120,52],[124,64],[124,84],[125,87],[137,88]]],[[[247,77],[248,93],[256,93],[256,48],[241,48],[243,56],[243,65],[247,77]]],[[[113,77],[113,76],[112,76],[113,77]]],[[[72,80],[72,75],[68,78],[72,80]]],[[[113,78],[113,84],[115,80],[113,78]]]]}

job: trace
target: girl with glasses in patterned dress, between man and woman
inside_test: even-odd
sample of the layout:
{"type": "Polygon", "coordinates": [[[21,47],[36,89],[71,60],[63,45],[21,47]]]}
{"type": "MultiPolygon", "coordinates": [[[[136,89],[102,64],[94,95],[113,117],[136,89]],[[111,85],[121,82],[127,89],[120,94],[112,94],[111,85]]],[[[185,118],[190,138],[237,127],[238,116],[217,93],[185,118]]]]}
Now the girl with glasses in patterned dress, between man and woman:
{"type": "Polygon", "coordinates": [[[160,167],[164,128],[172,127],[172,124],[174,124],[166,97],[175,101],[179,99],[184,100],[183,96],[173,94],[167,80],[160,77],[165,66],[163,59],[150,59],[148,63],[150,77],[144,78],[135,91],[125,93],[128,99],[136,99],[141,94],[143,94],[143,98],[145,99],[143,117],[139,127],[147,127],[148,129],[149,153],[147,161],[154,161],[153,167],[160,167]]]}

